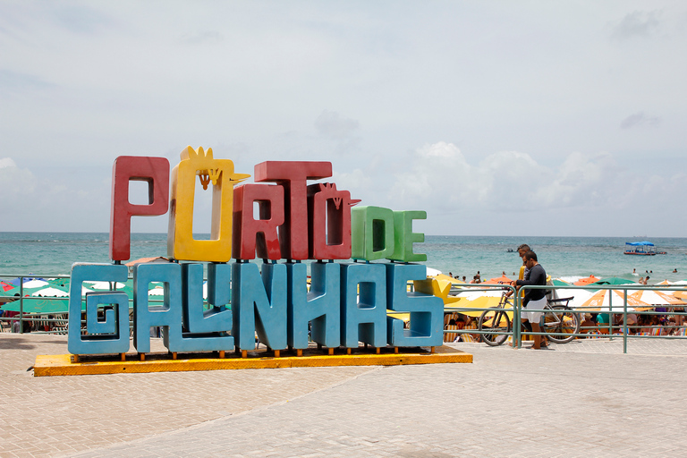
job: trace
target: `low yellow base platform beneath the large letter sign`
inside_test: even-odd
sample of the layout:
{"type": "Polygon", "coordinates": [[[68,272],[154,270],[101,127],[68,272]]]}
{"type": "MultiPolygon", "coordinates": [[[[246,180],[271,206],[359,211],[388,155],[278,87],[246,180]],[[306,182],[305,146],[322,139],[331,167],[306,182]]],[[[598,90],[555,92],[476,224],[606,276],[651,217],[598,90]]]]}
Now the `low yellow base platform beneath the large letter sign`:
{"type": "MultiPolygon", "coordinates": [[[[322,350],[305,350],[303,356],[284,354],[275,358],[272,352],[265,350],[248,352],[246,358],[208,358],[208,354],[179,354],[174,360],[170,353],[146,353],[145,360],[140,360],[136,353],[126,355],[120,360],[119,355],[81,356],[79,362],[73,362],[70,354],[38,355],[34,365],[35,377],[46,376],[79,376],[95,374],[122,374],[141,372],[181,372],[190,370],[220,369],[276,369],[276,368],[320,368],[331,366],[400,366],[405,364],[433,364],[472,362],[470,353],[461,352],[447,346],[436,347],[434,353],[425,349],[407,349],[411,352],[394,353],[394,349],[382,349],[380,354],[369,350],[355,350],[352,354],[322,354],[322,350]]],[[[342,352],[336,349],[336,352],[342,352]]],[[[232,353],[233,354],[233,353],[232,353]]]]}

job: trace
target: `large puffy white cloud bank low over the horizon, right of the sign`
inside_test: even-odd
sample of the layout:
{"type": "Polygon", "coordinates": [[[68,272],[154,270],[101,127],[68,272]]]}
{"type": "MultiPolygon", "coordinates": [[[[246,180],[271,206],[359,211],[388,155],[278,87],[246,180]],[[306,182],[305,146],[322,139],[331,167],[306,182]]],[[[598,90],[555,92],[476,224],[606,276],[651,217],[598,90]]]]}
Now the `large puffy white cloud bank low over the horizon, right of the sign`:
{"type": "MultiPolygon", "coordinates": [[[[527,153],[500,151],[471,165],[459,148],[443,141],[416,150],[407,169],[395,175],[387,196],[395,208],[431,207],[453,213],[487,210],[543,215],[561,208],[630,208],[647,190],[657,191],[662,182],[650,174],[632,174],[608,153],[573,152],[551,168],[527,153]]],[[[668,182],[674,185],[678,181],[673,178],[668,182]]]]}

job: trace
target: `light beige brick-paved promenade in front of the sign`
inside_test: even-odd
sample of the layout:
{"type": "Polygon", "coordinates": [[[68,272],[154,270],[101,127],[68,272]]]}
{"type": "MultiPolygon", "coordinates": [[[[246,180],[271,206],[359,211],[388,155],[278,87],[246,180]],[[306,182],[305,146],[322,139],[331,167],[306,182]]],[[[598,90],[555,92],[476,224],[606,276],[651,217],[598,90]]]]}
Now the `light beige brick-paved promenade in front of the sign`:
{"type": "Polygon", "coordinates": [[[682,455],[687,342],[452,344],[472,364],[31,377],[0,335],[0,456],[682,455]]]}

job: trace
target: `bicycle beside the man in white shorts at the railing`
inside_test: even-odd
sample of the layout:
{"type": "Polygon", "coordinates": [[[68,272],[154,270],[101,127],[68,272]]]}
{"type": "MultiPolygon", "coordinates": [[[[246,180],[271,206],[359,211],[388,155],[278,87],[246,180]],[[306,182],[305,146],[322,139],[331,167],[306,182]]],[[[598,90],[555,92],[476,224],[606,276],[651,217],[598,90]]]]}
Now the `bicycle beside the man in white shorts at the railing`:
{"type": "MultiPolygon", "coordinates": [[[[555,344],[566,344],[573,340],[575,334],[580,333],[580,318],[577,313],[568,307],[573,297],[561,299],[547,299],[544,307],[541,330],[548,340],[555,344]]],[[[489,346],[504,344],[511,334],[512,318],[508,317],[506,309],[513,309],[513,302],[505,293],[501,296],[498,306],[485,310],[478,320],[478,326],[482,342],[489,346]]]]}

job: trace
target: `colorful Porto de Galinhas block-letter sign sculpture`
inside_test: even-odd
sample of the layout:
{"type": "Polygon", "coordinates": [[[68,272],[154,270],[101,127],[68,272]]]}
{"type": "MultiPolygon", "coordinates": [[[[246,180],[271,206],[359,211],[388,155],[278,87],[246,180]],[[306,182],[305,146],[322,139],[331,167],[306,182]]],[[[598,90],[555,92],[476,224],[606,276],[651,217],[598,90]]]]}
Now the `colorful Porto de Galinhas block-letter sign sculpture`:
{"type": "Polygon", "coordinates": [[[332,176],[328,162],[264,162],[255,180],[215,159],[212,149],[188,147],[169,173],[164,157],[117,157],[113,166],[110,258],[114,264],[72,267],[69,352],[123,353],[129,350],[129,300],[125,293],[86,293],[81,328],[81,284],[123,282],[130,257],[131,216],[169,211],[170,263],[133,267],[133,344],[150,351],[150,327],[161,327],[170,352],[249,351],[255,335],[272,350],[308,348],[309,340],[329,349],[417,347],[442,344],[443,301],[409,293],[411,280],[426,280],[426,268],[412,261],[422,233],[412,221],[424,211],[353,207],[334,183],[308,184],[332,176]],[[167,190],[171,176],[171,199],[167,190]],[[199,181],[196,180],[199,177],[199,181]],[[148,205],[129,202],[129,182],[148,182],[148,205]],[[197,183],[212,184],[210,240],[192,234],[197,183]],[[267,184],[273,182],[275,184],[267,184]],[[259,218],[253,208],[257,202],[259,218]],[[249,262],[256,254],[261,266],[249,262]],[[234,259],[230,263],[231,259],[234,259]],[[353,262],[334,260],[353,259],[353,262]],[[284,262],[277,262],[284,259],[284,262]],[[308,266],[311,259],[311,285],[308,266]],[[394,262],[369,261],[388,259],[394,262]],[[179,261],[191,261],[180,263],[179,261]],[[203,264],[208,263],[208,304],[203,307],[203,264]],[[148,303],[148,284],[165,284],[161,304],[148,303]],[[98,318],[98,307],[105,308],[98,318]],[[410,312],[410,328],[386,310],[410,312]],[[309,334],[310,327],[310,334],[309,334]]]}

